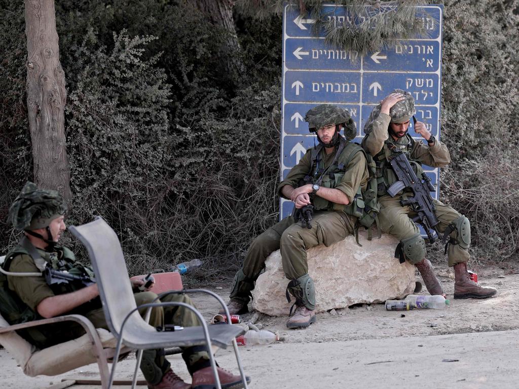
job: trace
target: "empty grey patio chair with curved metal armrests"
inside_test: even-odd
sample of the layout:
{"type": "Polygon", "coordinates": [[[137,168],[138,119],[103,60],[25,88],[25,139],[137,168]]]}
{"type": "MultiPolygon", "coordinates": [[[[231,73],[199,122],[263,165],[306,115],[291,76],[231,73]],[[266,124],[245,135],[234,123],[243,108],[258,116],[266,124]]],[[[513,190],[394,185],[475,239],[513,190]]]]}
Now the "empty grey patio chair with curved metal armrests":
{"type": "MultiPolygon", "coordinates": [[[[90,260],[92,262],[92,267],[94,269],[95,277],[98,283],[99,294],[101,297],[101,301],[103,303],[103,310],[105,313],[106,322],[108,324],[108,328],[110,328],[114,337],[117,338],[117,348],[114,356],[114,362],[112,365],[110,379],[108,380],[107,389],[111,389],[112,387],[115,368],[117,367],[117,357],[120,352],[120,348],[123,344],[132,349],[138,350],[138,358],[136,361],[132,388],[134,388],[135,386],[136,373],[139,369],[139,364],[142,358],[143,350],[164,348],[166,346],[192,346],[206,344],[209,350],[210,363],[214,374],[216,387],[218,389],[221,389],[220,379],[218,377],[216,370],[216,363],[211,351],[211,345],[216,344],[217,346],[226,348],[229,342],[233,343],[238,368],[240,370],[240,376],[243,381],[243,386],[245,389],[247,389],[247,380],[245,379],[245,375],[243,373],[243,368],[241,366],[241,361],[238,352],[238,345],[235,339],[237,335],[243,334],[244,330],[241,328],[237,328],[236,326],[232,326],[230,324],[230,314],[224,301],[220,298],[220,296],[217,296],[215,293],[205,289],[171,291],[171,293],[207,293],[215,297],[218,300],[218,302],[220,302],[220,304],[226,312],[228,324],[219,324],[216,326],[211,326],[211,328],[209,328],[208,325],[204,322],[203,316],[200,314],[200,312],[196,310],[196,308],[182,302],[153,302],[143,304],[140,307],[136,307],[132,293],[132,306],[129,308],[125,304],[125,302],[130,303],[128,291],[131,291],[131,288],[129,287],[129,285],[125,286],[108,283],[110,284],[107,286],[108,294],[115,293],[115,290],[118,288],[119,290],[117,290],[117,293],[119,293],[119,296],[121,296],[120,300],[118,301],[117,307],[114,307],[114,305],[112,305],[113,301],[108,300],[108,295],[106,294],[105,290],[106,285],[104,285],[104,283],[102,282],[103,275],[108,271],[108,269],[111,269],[113,272],[117,273],[118,276],[124,276],[128,273],[128,270],[126,268],[126,262],[124,261],[124,257],[122,256],[122,249],[120,247],[120,243],[117,238],[117,235],[115,234],[115,231],[110,226],[108,226],[101,217],[95,218],[92,222],[87,223],[86,225],[77,227],[71,226],[69,229],[72,232],[72,234],[74,234],[75,237],[77,237],[87,247],[87,251],[89,253],[90,260]],[[93,245],[97,246],[94,247],[93,245]],[[105,251],[108,253],[108,256],[112,256],[110,262],[103,262],[103,260],[98,260],[98,256],[100,256],[100,253],[103,253],[103,256],[106,257],[105,251]],[[201,328],[187,327],[184,332],[156,332],[155,329],[153,329],[151,326],[147,324],[147,318],[149,318],[149,313],[152,308],[169,306],[181,306],[195,312],[200,323],[202,324],[201,328]],[[147,309],[144,319],[139,314],[135,314],[135,312],[140,308],[147,309]],[[113,313],[112,309],[119,311],[119,313],[113,313]],[[124,316],[121,315],[122,311],[125,311],[124,316]],[[122,322],[120,322],[121,318],[122,322]],[[123,336],[123,330],[125,330],[125,336],[123,336]],[[138,336],[136,331],[140,331],[138,336]],[[211,332],[213,333],[213,337],[211,332]],[[183,333],[184,336],[179,336],[179,333],[183,333]],[[203,340],[201,338],[202,334],[203,340]],[[191,338],[189,338],[189,336],[191,338]]],[[[107,259],[104,260],[106,261],[107,259]]],[[[169,292],[161,294],[161,296],[164,296],[166,294],[169,294],[169,292]]]]}

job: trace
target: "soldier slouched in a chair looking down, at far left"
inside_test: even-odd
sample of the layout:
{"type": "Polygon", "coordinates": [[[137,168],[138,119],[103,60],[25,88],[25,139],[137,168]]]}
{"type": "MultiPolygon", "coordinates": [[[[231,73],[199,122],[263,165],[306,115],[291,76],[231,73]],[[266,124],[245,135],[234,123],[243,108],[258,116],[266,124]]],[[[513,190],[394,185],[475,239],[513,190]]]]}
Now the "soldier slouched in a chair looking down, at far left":
{"type": "MultiPolygon", "coordinates": [[[[28,182],[9,209],[9,220],[16,229],[23,230],[23,238],[5,257],[3,268],[10,272],[38,273],[47,267],[53,270],[66,270],[70,274],[93,278],[93,271],[76,261],[74,254],[66,247],[58,245],[58,240],[65,230],[64,214],[66,205],[61,195],[54,190],[37,189],[28,182]]],[[[106,258],[110,260],[110,258],[106,258]]],[[[114,274],[117,279],[117,274],[114,274]]],[[[85,285],[81,282],[47,284],[42,276],[7,276],[8,288],[13,299],[19,301],[19,314],[22,322],[49,318],[64,314],[86,316],[95,328],[109,329],[106,324],[98,286],[95,283],[85,285]],[[23,317],[21,317],[23,316],[23,317]]],[[[124,282],[119,281],[117,282],[124,282]]],[[[130,280],[126,281],[130,282],[130,280]]],[[[139,292],[142,280],[131,280],[136,293],[137,305],[153,302],[157,295],[148,291],[139,292]]],[[[193,305],[184,294],[170,294],[162,301],[176,301],[193,305]]],[[[144,313],[144,312],[143,312],[144,313]]],[[[149,324],[157,327],[163,324],[175,324],[183,327],[199,325],[195,313],[184,307],[153,308],[149,324]]],[[[81,326],[70,322],[40,326],[28,334],[22,334],[38,348],[46,348],[84,334],[81,326]]],[[[214,387],[214,376],[209,362],[209,350],[206,346],[184,348],[182,357],[193,377],[193,383],[185,383],[173,370],[164,356],[163,350],[145,350],[142,356],[141,370],[150,389],[201,389],[214,387]]],[[[218,367],[218,377],[222,388],[241,388],[240,376],[218,367]]],[[[247,381],[249,382],[247,377],[247,381]]]]}

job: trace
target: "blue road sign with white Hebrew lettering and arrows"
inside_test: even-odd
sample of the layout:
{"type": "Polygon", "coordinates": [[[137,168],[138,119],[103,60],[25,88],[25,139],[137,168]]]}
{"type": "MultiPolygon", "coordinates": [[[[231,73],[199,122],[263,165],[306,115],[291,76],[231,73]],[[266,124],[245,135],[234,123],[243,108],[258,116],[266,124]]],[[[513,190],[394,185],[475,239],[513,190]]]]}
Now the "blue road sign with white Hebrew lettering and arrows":
{"type": "MultiPolygon", "coordinates": [[[[381,7],[384,10],[384,6],[381,7]]],[[[376,12],[376,11],[375,11],[376,12]]],[[[348,109],[357,126],[354,142],[360,143],[364,124],[373,108],[392,90],[400,88],[415,99],[416,119],[440,138],[442,5],[418,7],[426,36],[401,40],[394,47],[359,57],[324,43],[324,31],[313,36],[315,20],[302,18],[296,9],[283,14],[283,79],[281,121],[281,176],[313,147],[317,138],[308,132],[304,117],[317,104],[336,104],[348,109]]],[[[321,18],[330,28],[356,23],[344,7],[325,5],[321,18]]],[[[361,18],[362,19],[362,18],[361,18]]],[[[423,138],[409,126],[417,142],[423,138]]],[[[438,188],[439,170],[424,166],[438,188]]],[[[438,190],[431,192],[438,199],[438,190]]],[[[280,217],[290,214],[293,203],[281,201],[280,217]]]]}

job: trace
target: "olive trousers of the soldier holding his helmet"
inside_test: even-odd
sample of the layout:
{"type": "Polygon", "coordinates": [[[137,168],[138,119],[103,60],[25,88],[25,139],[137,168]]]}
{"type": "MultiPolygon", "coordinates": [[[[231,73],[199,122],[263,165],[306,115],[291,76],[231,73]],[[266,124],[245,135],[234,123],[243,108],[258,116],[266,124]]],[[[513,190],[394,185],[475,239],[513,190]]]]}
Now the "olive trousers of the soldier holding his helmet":
{"type": "MultiPolygon", "coordinates": [[[[400,203],[401,200],[401,195],[395,196],[394,198],[390,196],[378,198],[381,205],[378,215],[381,230],[394,235],[394,237],[400,241],[420,233],[420,230],[412,220],[412,218],[416,216],[416,212],[413,211],[411,206],[402,205],[400,203]]],[[[443,233],[445,229],[461,215],[449,205],[445,205],[434,199],[433,202],[436,207],[434,214],[440,221],[438,230],[443,233]]],[[[452,231],[450,237],[457,240],[458,231],[452,231]]],[[[470,258],[470,254],[467,249],[462,248],[458,244],[449,244],[447,248],[447,258],[448,266],[454,266],[456,263],[467,262],[470,258]]]]}

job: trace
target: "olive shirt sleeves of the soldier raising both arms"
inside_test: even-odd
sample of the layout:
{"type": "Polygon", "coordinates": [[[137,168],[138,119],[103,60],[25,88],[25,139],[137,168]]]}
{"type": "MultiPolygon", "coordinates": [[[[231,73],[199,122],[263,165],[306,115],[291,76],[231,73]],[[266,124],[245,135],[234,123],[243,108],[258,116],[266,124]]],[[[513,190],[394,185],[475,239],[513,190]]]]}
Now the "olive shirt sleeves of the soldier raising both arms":
{"type": "MultiPolygon", "coordinates": [[[[378,118],[373,122],[373,130],[364,137],[362,146],[375,157],[382,147],[384,141],[389,137],[388,126],[391,116],[380,113],[378,118]]],[[[397,143],[406,143],[406,137],[400,138],[397,143]]],[[[426,145],[424,142],[414,142],[413,149],[409,154],[412,159],[420,161],[423,164],[432,166],[433,168],[443,168],[450,163],[450,154],[447,146],[436,140],[432,146],[426,145]]]]}

